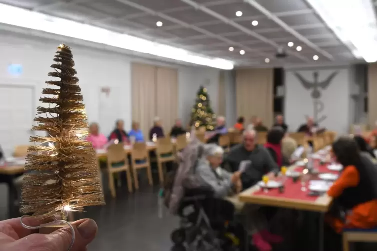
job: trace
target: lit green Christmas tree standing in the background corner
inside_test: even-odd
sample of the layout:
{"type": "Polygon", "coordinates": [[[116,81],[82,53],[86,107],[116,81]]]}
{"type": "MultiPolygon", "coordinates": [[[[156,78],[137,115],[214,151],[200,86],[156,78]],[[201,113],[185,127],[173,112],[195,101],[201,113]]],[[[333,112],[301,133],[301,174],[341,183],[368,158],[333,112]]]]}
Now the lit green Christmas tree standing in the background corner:
{"type": "Polygon", "coordinates": [[[197,128],[205,126],[207,130],[213,130],[215,118],[216,115],[213,114],[207,89],[201,86],[197,92],[195,105],[192,108],[190,124],[195,125],[197,128]]]}

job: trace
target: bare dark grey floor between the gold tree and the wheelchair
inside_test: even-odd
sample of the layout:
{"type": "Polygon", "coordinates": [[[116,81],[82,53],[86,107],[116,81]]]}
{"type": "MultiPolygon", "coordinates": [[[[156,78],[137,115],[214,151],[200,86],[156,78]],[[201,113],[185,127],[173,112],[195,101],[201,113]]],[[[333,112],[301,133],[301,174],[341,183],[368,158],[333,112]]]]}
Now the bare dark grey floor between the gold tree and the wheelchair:
{"type": "MultiPolygon", "coordinates": [[[[178,219],[165,208],[163,218],[158,217],[158,186],[150,187],[142,182],[140,187],[130,194],[124,185],[118,188],[115,199],[105,194],[106,205],[89,207],[87,212],[75,214],[75,219],[92,218],[98,224],[97,237],[88,251],[170,250],[170,232],[178,225],[178,219]]],[[[6,189],[6,185],[0,184],[0,201],[7,201],[6,189]]],[[[6,219],[6,213],[5,203],[0,203],[0,220],[6,219]]]]}

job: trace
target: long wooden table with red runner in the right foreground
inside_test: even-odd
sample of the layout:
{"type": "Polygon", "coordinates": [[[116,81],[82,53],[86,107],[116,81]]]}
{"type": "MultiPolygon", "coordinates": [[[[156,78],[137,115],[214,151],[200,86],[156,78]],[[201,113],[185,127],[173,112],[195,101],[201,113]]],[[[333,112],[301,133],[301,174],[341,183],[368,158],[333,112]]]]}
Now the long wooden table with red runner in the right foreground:
{"type": "MultiPolygon", "coordinates": [[[[318,180],[318,175],[321,173],[339,174],[338,171],[329,170],[328,163],[321,163],[320,160],[313,161],[315,174],[310,175],[310,180],[318,180]]],[[[288,171],[295,171],[302,173],[305,166],[294,164],[288,168],[288,171]]],[[[284,189],[263,189],[258,184],[244,190],[238,195],[238,199],[245,204],[258,204],[263,206],[273,206],[280,208],[288,208],[302,211],[318,212],[319,218],[319,250],[324,248],[324,216],[329,210],[333,198],[327,193],[311,194],[308,189],[310,180],[303,184],[299,179],[294,180],[292,177],[287,177],[284,182],[284,189]],[[303,186],[305,187],[303,189],[303,186]]],[[[248,215],[246,215],[248,216],[248,215]]]]}

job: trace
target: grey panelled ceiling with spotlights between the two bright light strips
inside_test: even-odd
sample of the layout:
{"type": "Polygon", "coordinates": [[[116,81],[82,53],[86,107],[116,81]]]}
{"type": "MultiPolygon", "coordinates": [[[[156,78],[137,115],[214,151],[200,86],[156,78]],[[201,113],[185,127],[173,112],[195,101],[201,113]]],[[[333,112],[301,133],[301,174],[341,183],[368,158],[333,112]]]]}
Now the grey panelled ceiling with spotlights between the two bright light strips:
{"type": "MultiPolygon", "coordinates": [[[[357,61],[305,0],[0,0],[169,44],[238,67],[357,61]],[[242,11],[237,17],[236,12],[242,11]],[[162,22],[157,27],[157,22],[162,22]],[[252,22],[258,21],[257,26],[252,22]],[[289,47],[288,42],[294,46],[289,47]],[[302,50],[297,51],[296,47],[302,50]],[[233,47],[234,51],[229,51],[233,47]],[[278,48],[287,52],[276,58],[278,48]],[[240,50],[245,54],[241,55],[240,50]],[[318,60],[314,61],[313,56],[318,60]]],[[[255,22],[254,22],[255,23],[255,22]]]]}

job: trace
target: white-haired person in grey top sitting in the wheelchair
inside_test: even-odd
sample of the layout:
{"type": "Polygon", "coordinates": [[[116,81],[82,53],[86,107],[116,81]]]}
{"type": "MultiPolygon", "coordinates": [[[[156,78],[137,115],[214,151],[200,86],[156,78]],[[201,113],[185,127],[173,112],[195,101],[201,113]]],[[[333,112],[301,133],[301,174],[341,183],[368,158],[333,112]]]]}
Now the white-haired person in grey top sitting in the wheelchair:
{"type": "Polygon", "coordinates": [[[206,148],[206,158],[199,160],[196,169],[199,180],[209,185],[217,198],[229,196],[233,188],[241,191],[241,180],[220,166],[224,149],[216,144],[210,144],[206,148]]]}

